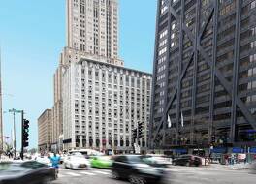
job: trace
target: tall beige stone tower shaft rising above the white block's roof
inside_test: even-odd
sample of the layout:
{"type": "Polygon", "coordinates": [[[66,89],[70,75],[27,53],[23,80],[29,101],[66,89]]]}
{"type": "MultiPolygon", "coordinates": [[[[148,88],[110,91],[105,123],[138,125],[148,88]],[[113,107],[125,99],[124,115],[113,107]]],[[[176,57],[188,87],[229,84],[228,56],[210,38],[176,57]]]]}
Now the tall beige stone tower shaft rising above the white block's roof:
{"type": "Polygon", "coordinates": [[[117,0],[67,0],[67,37],[67,47],[123,65],[118,59],[117,0]]]}

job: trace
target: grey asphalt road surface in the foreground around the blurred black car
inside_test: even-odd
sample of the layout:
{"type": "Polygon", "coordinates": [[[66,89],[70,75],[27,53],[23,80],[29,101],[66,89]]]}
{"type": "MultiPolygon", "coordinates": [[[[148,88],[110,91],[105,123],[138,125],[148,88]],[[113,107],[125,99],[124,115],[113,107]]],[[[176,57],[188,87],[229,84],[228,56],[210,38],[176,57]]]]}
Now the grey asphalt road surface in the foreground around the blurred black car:
{"type": "MultiPolygon", "coordinates": [[[[256,173],[250,170],[226,169],[221,167],[194,168],[171,167],[167,169],[168,184],[242,184],[255,183],[256,173]]],[[[53,184],[122,184],[127,181],[114,180],[111,170],[60,169],[58,180],[53,184]]]]}

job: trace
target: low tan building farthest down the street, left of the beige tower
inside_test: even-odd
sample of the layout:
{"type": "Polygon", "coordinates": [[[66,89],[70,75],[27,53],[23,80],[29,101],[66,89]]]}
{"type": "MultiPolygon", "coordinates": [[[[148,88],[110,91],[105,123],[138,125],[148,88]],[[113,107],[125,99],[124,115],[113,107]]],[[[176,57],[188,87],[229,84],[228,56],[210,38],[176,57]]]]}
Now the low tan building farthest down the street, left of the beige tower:
{"type": "Polygon", "coordinates": [[[46,109],[38,118],[38,151],[46,153],[51,150],[52,112],[46,109]]]}

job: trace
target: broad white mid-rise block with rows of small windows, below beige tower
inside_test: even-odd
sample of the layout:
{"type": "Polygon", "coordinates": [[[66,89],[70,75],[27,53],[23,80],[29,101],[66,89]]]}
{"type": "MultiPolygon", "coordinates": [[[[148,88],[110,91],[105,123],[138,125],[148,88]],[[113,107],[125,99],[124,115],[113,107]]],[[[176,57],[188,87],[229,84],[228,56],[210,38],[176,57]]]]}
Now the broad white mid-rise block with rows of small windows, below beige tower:
{"type": "Polygon", "coordinates": [[[151,75],[80,59],[63,76],[64,149],[133,150],[132,129],[144,124],[147,144],[151,75]]]}

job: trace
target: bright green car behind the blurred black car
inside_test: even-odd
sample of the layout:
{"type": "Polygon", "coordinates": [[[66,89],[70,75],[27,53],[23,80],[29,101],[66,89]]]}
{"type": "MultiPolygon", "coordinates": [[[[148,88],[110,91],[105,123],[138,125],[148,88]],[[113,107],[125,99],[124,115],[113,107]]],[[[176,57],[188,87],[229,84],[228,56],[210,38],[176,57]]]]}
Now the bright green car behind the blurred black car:
{"type": "Polygon", "coordinates": [[[112,159],[109,156],[95,156],[90,159],[91,167],[109,169],[112,167],[112,159]]]}

